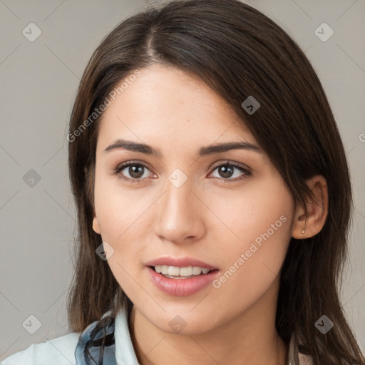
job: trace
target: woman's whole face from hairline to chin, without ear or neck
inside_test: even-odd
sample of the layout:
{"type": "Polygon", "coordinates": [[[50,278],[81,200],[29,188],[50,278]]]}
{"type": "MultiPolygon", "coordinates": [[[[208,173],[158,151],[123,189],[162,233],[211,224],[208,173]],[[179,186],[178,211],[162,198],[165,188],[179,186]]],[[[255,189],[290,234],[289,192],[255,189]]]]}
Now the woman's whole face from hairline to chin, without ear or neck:
{"type": "Polygon", "coordinates": [[[182,321],[176,316],[186,333],[198,333],[255,308],[277,285],[294,203],[230,106],[196,76],[153,65],[108,106],[99,127],[93,229],[135,308],[170,333],[171,322],[182,321]],[[225,143],[243,144],[212,148],[225,143]],[[151,269],[155,259],[214,270],[165,278],[151,269]]]}

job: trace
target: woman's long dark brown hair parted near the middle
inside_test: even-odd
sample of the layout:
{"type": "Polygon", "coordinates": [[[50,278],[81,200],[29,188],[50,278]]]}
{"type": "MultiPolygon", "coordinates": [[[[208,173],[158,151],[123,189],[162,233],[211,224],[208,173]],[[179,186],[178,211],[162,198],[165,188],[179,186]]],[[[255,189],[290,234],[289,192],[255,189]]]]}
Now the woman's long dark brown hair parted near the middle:
{"type": "Polygon", "coordinates": [[[93,183],[103,114],[91,121],[90,115],[124,78],[153,63],[200,77],[227,101],[306,215],[306,202],[314,199],[306,180],[314,175],[327,180],[329,210],[324,227],[314,237],[289,242],[275,326],[287,346],[294,332],[302,342],[299,351],[312,355],[316,365],[364,365],[339,300],[353,197],[334,115],[297,43],[274,21],[237,0],[170,1],[149,7],[118,24],[88,61],[68,135],[78,219],[76,268],[67,298],[71,330],[83,331],[107,311],[115,315],[123,307],[129,316],[133,307],[108,263],[96,255],[102,240],[92,228],[93,183]],[[242,108],[249,96],[261,105],[251,115],[242,108]],[[81,130],[81,126],[85,127],[81,130]],[[334,322],[327,334],[314,326],[324,314],[334,322]]]}

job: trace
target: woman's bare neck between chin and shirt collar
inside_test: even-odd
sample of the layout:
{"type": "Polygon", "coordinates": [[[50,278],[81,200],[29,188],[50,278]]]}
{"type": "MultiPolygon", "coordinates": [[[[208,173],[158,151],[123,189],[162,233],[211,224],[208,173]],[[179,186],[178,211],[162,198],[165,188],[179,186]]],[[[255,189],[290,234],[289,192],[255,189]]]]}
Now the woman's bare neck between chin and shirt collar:
{"type": "Polygon", "coordinates": [[[220,327],[197,334],[170,334],[133,306],[128,321],[141,365],[287,365],[288,349],[275,329],[277,286],[220,327]]]}

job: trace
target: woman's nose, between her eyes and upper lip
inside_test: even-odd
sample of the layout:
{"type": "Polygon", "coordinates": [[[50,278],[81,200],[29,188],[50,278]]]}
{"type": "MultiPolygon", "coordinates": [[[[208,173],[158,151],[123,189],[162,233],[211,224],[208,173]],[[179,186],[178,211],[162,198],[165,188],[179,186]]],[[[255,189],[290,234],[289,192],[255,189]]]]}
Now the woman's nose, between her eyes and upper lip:
{"type": "Polygon", "coordinates": [[[207,211],[197,192],[192,191],[190,180],[176,187],[166,184],[166,190],[155,204],[155,234],[161,240],[180,244],[199,240],[205,235],[204,217],[207,211]]]}

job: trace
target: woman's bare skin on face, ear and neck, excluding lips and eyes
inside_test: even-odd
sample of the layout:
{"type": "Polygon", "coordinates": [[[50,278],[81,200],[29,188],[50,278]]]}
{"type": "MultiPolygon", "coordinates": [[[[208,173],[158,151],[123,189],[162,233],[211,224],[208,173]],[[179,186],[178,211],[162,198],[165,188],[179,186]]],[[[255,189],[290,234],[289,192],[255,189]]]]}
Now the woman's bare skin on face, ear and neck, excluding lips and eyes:
{"type": "Polygon", "coordinates": [[[274,327],[279,273],[291,237],[312,237],[322,229],[326,181],[308,180],[319,202],[308,202],[306,220],[265,153],[240,149],[197,158],[199,148],[216,143],[259,145],[196,76],[158,64],[140,71],[101,120],[93,219],[93,230],[113,247],[110,269],[134,304],[129,328],[139,363],[287,364],[274,327]],[[146,143],[162,156],[123,148],[104,152],[116,138],[146,143]],[[113,175],[131,160],[147,168],[137,178],[128,167],[113,175]],[[227,160],[252,175],[237,168],[225,175],[217,166],[227,168],[227,160]],[[178,188],[168,180],[177,168],[187,178],[178,188]],[[121,175],[145,181],[129,183],[121,175]],[[170,255],[200,259],[220,269],[220,277],[283,215],[286,222],[220,288],[174,297],[148,276],[145,262],[170,255]],[[180,334],[169,325],[177,315],[186,323],[180,334]]]}

